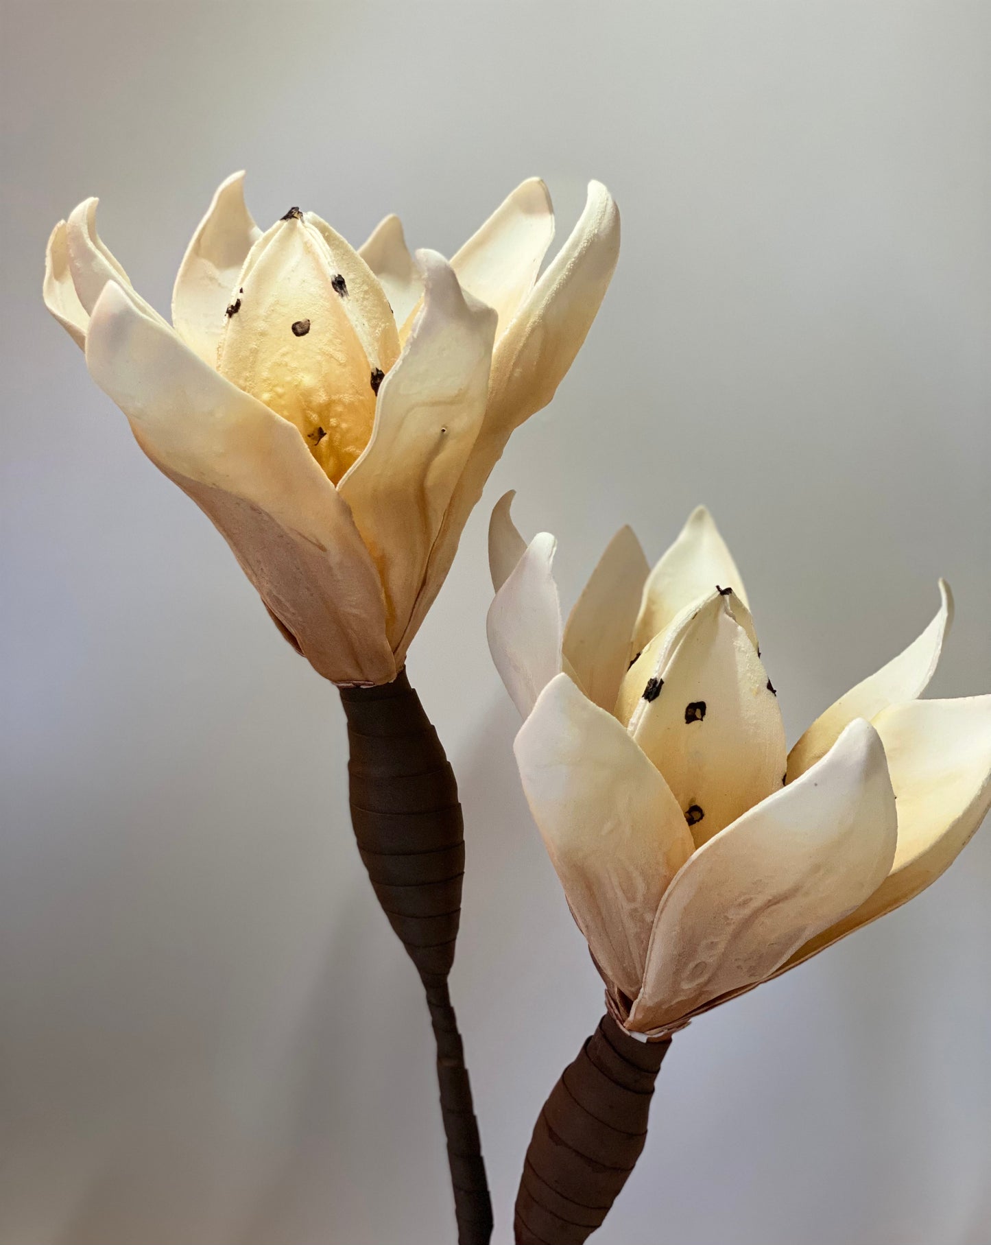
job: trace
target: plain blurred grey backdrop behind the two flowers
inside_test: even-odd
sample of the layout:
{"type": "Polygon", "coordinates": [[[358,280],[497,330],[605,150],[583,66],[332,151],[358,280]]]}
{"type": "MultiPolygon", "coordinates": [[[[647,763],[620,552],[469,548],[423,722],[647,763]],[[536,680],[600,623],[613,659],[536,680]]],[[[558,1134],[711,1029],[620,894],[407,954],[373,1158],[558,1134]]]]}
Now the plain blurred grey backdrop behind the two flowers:
{"type": "MultiPolygon", "coordinates": [[[[454,990],[498,1214],[601,991],[512,761],[488,508],[660,554],[705,500],[792,738],[956,590],[991,690],[984,2],[7,4],[2,1245],[452,1239],[418,984],[346,820],[334,688],[45,314],[52,223],[167,310],[215,184],[446,253],[584,182],[620,268],[513,438],[410,670],[469,835],[454,990]]],[[[598,1240],[987,1245],[991,829],[924,898],[675,1042],[598,1240]]]]}

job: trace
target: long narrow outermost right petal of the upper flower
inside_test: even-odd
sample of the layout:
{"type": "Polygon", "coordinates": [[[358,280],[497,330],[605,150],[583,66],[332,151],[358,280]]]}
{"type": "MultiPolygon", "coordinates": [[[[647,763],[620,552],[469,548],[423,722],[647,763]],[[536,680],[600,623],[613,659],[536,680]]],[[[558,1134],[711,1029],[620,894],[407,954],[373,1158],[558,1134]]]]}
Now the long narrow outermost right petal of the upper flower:
{"type": "Polygon", "coordinates": [[[413,630],[447,578],[462,529],[509,435],[547,406],[585,340],[616,266],[619,235],[616,205],[606,188],[593,182],[571,237],[496,345],[486,420],[433,547],[413,630]]]}

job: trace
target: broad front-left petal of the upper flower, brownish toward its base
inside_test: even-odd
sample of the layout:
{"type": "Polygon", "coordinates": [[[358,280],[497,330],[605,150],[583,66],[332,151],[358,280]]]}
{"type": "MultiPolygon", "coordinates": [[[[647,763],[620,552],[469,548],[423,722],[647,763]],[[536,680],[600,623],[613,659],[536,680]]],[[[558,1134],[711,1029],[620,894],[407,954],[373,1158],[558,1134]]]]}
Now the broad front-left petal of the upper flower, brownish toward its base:
{"type": "Polygon", "coordinates": [[[224,380],[116,283],[86,364],[146,454],[219,528],[265,605],[335,682],[396,675],[375,566],[296,430],[224,380]]]}

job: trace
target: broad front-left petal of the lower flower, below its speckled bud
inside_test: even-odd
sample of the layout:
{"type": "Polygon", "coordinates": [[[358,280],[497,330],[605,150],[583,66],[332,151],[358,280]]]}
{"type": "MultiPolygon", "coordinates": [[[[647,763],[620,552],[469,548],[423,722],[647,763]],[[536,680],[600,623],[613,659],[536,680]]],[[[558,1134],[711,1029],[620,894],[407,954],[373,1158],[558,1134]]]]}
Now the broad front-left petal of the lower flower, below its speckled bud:
{"type": "Polygon", "coordinates": [[[566,675],[514,743],[523,789],[568,904],[605,975],[635,996],[666,886],[692,852],[664,778],[566,675]]]}

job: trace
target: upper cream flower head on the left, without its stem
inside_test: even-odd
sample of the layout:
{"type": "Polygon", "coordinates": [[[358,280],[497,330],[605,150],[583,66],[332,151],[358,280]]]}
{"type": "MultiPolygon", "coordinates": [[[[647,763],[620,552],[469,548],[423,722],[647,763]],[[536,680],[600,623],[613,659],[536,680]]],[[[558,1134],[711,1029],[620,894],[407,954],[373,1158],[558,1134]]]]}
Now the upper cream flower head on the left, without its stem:
{"type": "Polygon", "coordinates": [[[228,178],[172,320],[100,240],[96,199],[49,240],[45,303],[152,462],[205,512],[326,679],[391,682],[513,428],[545,406],[599,310],[619,213],[589,187],[570,238],[518,187],[448,264],[387,217],[354,250],[291,208],[266,233],[228,178]]]}

